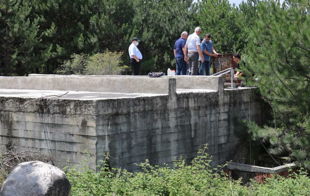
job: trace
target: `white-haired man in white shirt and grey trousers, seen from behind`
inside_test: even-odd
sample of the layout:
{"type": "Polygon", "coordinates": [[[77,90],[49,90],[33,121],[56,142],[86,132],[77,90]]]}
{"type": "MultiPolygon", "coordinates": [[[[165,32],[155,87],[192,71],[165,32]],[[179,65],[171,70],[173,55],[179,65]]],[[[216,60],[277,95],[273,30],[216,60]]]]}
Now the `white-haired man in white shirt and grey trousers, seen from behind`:
{"type": "Polygon", "coordinates": [[[196,76],[198,73],[198,64],[199,57],[201,59],[201,63],[204,62],[204,56],[200,50],[200,38],[199,34],[201,32],[201,28],[198,26],[195,28],[195,32],[188,36],[186,40],[186,44],[184,47],[184,60],[188,61],[188,75],[196,76]],[[188,53],[188,54],[187,54],[188,53]]]}

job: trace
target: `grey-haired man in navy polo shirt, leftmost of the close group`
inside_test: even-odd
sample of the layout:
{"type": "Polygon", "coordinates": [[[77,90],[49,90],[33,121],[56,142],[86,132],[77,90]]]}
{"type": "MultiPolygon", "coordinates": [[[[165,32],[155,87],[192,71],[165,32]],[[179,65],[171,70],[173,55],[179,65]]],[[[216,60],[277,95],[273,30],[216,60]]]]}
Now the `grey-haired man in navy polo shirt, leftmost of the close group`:
{"type": "Polygon", "coordinates": [[[186,62],[184,61],[184,47],[186,44],[186,40],[188,37],[188,33],[183,31],[181,33],[181,37],[175,42],[173,52],[175,63],[177,64],[177,73],[176,75],[186,75],[186,62]]]}

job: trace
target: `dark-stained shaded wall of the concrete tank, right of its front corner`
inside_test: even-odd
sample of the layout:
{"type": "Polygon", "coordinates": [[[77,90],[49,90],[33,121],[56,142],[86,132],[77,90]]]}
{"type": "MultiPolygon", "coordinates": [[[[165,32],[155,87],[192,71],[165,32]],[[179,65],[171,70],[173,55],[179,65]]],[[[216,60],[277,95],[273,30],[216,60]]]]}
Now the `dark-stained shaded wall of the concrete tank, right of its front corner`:
{"type": "MultiPolygon", "coordinates": [[[[133,163],[145,159],[155,165],[171,164],[174,157],[180,156],[191,160],[208,143],[208,153],[213,156],[211,165],[224,164],[240,146],[233,118],[242,120],[248,115],[249,91],[239,90],[238,94],[236,90],[225,91],[222,104],[217,92],[177,94],[173,98],[101,100],[97,107],[97,160],[109,151],[113,166],[138,170],[133,163]],[[236,99],[238,94],[245,110],[236,99]]],[[[254,91],[250,100],[251,117],[262,124],[268,108],[254,91]]]]}

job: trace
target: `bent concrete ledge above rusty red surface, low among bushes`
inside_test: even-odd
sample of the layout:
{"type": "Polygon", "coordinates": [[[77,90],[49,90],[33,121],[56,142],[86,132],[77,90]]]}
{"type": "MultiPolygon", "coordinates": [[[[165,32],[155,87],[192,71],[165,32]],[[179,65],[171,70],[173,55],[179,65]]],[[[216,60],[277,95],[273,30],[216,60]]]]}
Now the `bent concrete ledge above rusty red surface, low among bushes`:
{"type": "Polygon", "coordinates": [[[229,170],[236,170],[236,171],[245,171],[245,172],[262,172],[262,173],[268,173],[268,174],[275,174],[282,171],[287,171],[290,167],[294,168],[296,165],[294,163],[285,164],[282,166],[277,167],[259,167],[259,166],[252,166],[252,165],[246,165],[241,163],[229,163],[227,165],[227,169],[229,170]]]}

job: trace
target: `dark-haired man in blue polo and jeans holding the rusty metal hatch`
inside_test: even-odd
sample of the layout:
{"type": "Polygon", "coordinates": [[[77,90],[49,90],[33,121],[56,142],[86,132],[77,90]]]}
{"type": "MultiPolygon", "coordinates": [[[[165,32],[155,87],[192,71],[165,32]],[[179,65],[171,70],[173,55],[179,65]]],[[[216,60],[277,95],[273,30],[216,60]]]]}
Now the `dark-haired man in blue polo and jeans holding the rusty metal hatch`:
{"type": "Polygon", "coordinates": [[[206,76],[210,75],[210,56],[217,58],[219,54],[213,48],[213,44],[210,38],[211,38],[210,33],[207,33],[206,35],[204,35],[204,40],[201,43],[202,54],[204,55],[204,62],[201,63],[200,65],[200,69],[199,69],[200,76],[204,75],[204,71],[206,72],[206,76]]]}

